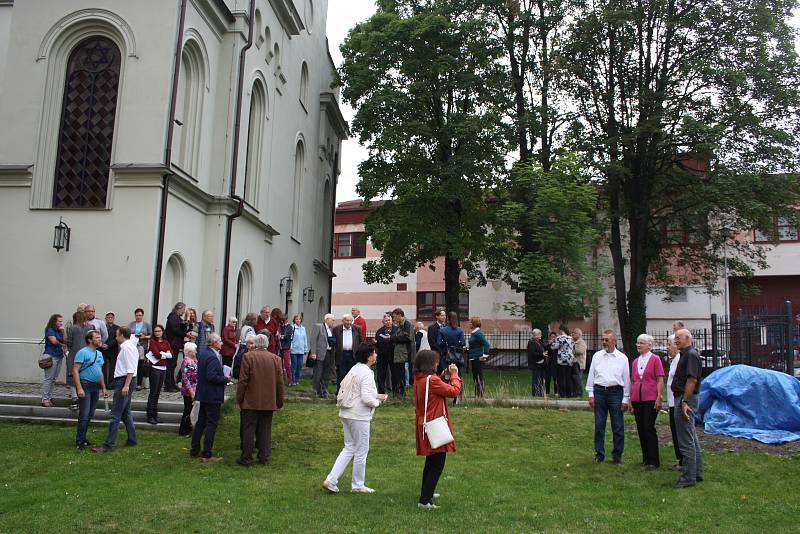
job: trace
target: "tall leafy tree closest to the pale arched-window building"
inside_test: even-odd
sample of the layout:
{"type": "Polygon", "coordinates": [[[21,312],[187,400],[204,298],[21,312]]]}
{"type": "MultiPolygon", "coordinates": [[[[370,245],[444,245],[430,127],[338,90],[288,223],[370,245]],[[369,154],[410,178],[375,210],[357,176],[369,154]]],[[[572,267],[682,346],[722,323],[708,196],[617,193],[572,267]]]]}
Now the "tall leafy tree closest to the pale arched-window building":
{"type": "Polygon", "coordinates": [[[389,197],[366,220],[382,256],[367,282],[389,282],[444,256],[446,305],[459,275],[509,257],[493,209],[508,146],[507,97],[487,22],[459,2],[378,2],[342,45],[344,99],[367,146],[359,195],[389,197]]]}

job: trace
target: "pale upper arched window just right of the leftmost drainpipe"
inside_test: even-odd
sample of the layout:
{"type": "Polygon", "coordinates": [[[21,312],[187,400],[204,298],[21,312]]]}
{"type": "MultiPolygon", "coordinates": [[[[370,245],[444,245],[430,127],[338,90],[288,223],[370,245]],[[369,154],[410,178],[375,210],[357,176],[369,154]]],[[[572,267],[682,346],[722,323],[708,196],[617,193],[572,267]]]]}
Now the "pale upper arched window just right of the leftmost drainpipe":
{"type": "Polygon", "coordinates": [[[194,40],[187,41],[181,53],[172,150],[173,161],[192,176],[197,173],[205,76],[205,62],[200,47],[194,40]]]}

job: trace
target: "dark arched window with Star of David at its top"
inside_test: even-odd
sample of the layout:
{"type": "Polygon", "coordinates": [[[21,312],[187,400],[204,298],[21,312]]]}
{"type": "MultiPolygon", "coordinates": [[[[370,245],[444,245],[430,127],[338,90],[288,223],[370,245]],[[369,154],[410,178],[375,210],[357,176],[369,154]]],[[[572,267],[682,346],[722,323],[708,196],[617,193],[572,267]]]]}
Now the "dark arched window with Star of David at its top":
{"type": "Polygon", "coordinates": [[[106,37],[80,42],[67,61],[54,208],[105,208],[119,91],[120,51],[106,37]]]}

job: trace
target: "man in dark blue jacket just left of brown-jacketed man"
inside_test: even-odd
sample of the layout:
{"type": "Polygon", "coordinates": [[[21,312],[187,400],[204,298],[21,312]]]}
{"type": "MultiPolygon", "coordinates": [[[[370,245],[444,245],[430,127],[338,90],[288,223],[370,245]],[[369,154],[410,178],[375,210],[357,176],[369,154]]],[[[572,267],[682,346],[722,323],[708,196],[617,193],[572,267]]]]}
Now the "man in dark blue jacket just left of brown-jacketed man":
{"type": "Polygon", "coordinates": [[[225,385],[228,377],[222,371],[219,350],[222,338],[218,334],[208,335],[208,347],[202,349],[197,357],[197,387],[195,400],[200,403],[200,414],[192,434],[192,448],[189,455],[200,455],[200,438],[205,432],[203,456],[201,461],[219,462],[221,457],[214,455],[214,435],[219,425],[219,414],[225,401],[225,385]]]}

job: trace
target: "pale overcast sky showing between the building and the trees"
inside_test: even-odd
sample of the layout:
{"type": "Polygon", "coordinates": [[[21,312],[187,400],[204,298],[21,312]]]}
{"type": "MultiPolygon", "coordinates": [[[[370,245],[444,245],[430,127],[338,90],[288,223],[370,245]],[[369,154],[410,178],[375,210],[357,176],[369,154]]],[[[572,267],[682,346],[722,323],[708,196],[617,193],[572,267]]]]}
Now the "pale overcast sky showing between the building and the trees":
{"type": "MultiPolygon", "coordinates": [[[[331,56],[337,66],[342,62],[339,45],[347,37],[347,32],[374,12],[375,0],[330,0],[327,32],[331,56]]],[[[800,11],[796,12],[793,23],[796,28],[800,28],[800,11]]],[[[800,52],[800,38],[797,41],[797,50],[800,52]]],[[[342,103],[342,114],[347,122],[352,121],[353,110],[345,103],[342,103]]],[[[358,164],[366,157],[367,151],[358,144],[358,140],[350,139],[342,143],[342,174],[339,176],[339,186],[336,189],[336,202],[358,198],[356,194],[358,164]]]]}

